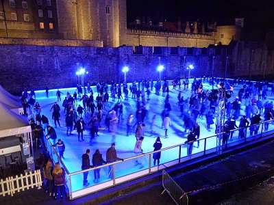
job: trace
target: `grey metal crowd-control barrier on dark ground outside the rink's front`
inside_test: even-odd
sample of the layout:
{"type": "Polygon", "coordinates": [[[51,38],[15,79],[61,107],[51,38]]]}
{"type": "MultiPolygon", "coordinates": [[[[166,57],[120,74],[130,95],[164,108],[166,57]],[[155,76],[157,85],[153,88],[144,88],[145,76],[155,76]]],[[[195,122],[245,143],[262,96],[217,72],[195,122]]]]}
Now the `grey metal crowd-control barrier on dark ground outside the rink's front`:
{"type": "Polygon", "coordinates": [[[179,187],[166,170],[162,171],[162,186],[164,187],[164,191],[162,191],[161,194],[166,191],[176,204],[188,205],[188,195],[179,187]]]}

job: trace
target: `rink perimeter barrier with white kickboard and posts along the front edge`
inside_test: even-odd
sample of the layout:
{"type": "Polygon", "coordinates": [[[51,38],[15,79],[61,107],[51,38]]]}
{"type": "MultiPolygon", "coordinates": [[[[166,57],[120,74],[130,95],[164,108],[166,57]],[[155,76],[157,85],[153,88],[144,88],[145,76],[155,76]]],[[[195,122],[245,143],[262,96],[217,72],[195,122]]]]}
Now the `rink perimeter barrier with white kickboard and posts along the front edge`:
{"type": "MultiPolygon", "coordinates": [[[[234,134],[234,141],[228,141],[227,144],[224,145],[224,146],[227,146],[225,149],[233,147],[233,146],[242,145],[242,144],[245,144],[245,143],[251,142],[251,141],[263,140],[264,138],[268,139],[269,135],[272,135],[274,133],[274,130],[273,129],[270,129],[269,131],[264,130],[264,124],[266,124],[266,123],[273,124],[273,122],[274,122],[274,120],[269,120],[266,122],[260,122],[259,124],[254,124],[254,125],[248,126],[247,128],[238,128],[238,129],[233,130],[234,133],[236,131],[242,130],[245,133],[245,135],[244,135],[245,137],[240,139],[240,138],[238,138],[238,136],[236,136],[234,134]],[[253,135],[251,135],[251,134],[249,134],[249,131],[253,128],[256,128],[257,133],[253,133],[253,135]]],[[[121,183],[127,182],[129,180],[134,180],[134,179],[140,178],[142,176],[147,176],[149,174],[158,172],[159,170],[166,169],[166,167],[178,165],[179,163],[189,161],[191,159],[196,159],[198,157],[205,156],[207,154],[216,153],[216,146],[209,146],[209,145],[211,145],[211,143],[207,143],[207,141],[210,141],[210,140],[216,141],[216,135],[212,135],[210,137],[205,137],[203,139],[198,139],[197,141],[199,141],[200,145],[203,148],[201,150],[197,150],[194,147],[193,152],[190,155],[182,153],[183,152],[182,148],[184,148],[184,146],[188,146],[188,144],[181,143],[181,144],[171,146],[168,148],[163,148],[162,150],[147,152],[145,154],[140,154],[138,156],[132,156],[132,157],[125,159],[124,161],[115,161],[114,163],[108,163],[105,165],[101,165],[99,167],[92,167],[90,169],[80,170],[78,172],[73,172],[73,173],[69,173],[68,169],[66,169],[66,166],[62,162],[62,159],[60,159],[60,156],[58,155],[58,152],[55,150],[54,147],[51,147],[51,145],[52,145],[51,141],[47,140],[49,142],[47,144],[49,145],[48,146],[49,152],[51,153],[51,156],[53,156],[53,161],[55,161],[55,162],[60,161],[60,165],[62,165],[62,167],[64,167],[64,170],[66,171],[66,174],[68,176],[67,185],[69,188],[69,198],[70,198],[70,200],[73,200],[78,197],[88,195],[90,193],[95,193],[95,192],[101,191],[103,189],[108,189],[110,187],[114,187],[116,184],[121,184],[121,183]],[[177,151],[176,151],[176,149],[177,149],[177,151]],[[171,161],[166,161],[158,166],[153,166],[153,163],[152,163],[153,153],[164,152],[165,150],[174,150],[175,158],[171,161]],[[175,154],[176,152],[177,152],[177,154],[175,154]],[[134,170],[134,172],[130,172],[129,174],[119,174],[116,172],[116,166],[123,167],[123,163],[125,163],[127,161],[134,163],[134,161],[140,159],[141,157],[143,157],[143,159],[145,157],[147,157],[149,160],[148,165],[145,165],[145,167],[143,167],[142,169],[134,170]],[[108,169],[108,166],[112,166],[113,178],[108,178],[108,180],[102,180],[99,183],[90,184],[87,187],[80,187],[78,189],[79,183],[82,184],[82,174],[84,172],[90,172],[90,171],[94,171],[95,169],[102,169],[104,167],[105,167],[105,169],[108,169]],[[73,181],[72,178],[78,177],[78,176],[76,176],[78,174],[81,175],[81,182],[79,182],[77,180],[77,184],[74,184],[72,182],[73,181]]],[[[195,141],[194,143],[197,143],[197,141],[195,141]]]]}

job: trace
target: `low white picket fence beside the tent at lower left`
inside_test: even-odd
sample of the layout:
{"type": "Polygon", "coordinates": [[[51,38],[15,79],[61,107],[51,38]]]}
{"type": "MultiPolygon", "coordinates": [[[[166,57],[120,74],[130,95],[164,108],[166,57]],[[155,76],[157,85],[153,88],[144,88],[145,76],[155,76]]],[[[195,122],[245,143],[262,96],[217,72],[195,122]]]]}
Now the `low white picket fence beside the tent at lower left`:
{"type": "Polygon", "coordinates": [[[0,195],[14,195],[14,193],[25,191],[25,189],[34,188],[34,186],[41,189],[42,178],[40,170],[32,172],[26,172],[25,175],[21,174],[20,177],[8,177],[5,180],[1,179],[0,195]]]}

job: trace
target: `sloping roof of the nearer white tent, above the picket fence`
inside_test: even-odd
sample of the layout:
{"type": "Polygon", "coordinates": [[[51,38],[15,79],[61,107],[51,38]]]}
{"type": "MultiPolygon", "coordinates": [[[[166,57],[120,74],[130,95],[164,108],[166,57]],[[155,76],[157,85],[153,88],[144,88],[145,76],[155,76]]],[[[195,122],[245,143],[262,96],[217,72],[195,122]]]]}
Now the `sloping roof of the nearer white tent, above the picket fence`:
{"type": "Polygon", "coordinates": [[[0,137],[18,135],[31,131],[24,115],[17,115],[0,102],[0,137]]]}

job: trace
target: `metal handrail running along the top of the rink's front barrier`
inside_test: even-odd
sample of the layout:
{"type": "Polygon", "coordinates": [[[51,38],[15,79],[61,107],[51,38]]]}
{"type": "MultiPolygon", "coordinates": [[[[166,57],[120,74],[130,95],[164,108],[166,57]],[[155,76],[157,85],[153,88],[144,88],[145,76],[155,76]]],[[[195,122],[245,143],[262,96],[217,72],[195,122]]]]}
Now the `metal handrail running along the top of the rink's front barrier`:
{"type": "MultiPolygon", "coordinates": [[[[258,123],[258,124],[264,124],[264,123],[268,123],[268,122],[274,122],[274,120],[267,120],[267,121],[265,121],[265,122],[260,122],[260,123],[258,123]]],[[[256,125],[258,125],[258,124],[253,124],[253,125],[251,125],[251,126],[256,126],[256,125]]],[[[251,126],[247,126],[246,128],[249,128],[249,127],[251,127],[251,126]]],[[[232,130],[232,131],[237,131],[237,130],[240,130],[240,129],[245,129],[245,128],[237,128],[237,129],[232,130]]],[[[221,134],[223,134],[223,133],[221,133],[221,134]]],[[[197,139],[197,141],[206,140],[206,139],[211,138],[211,137],[216,137],[216,134],[215,134],[215,135],[211,135],[211,136],[209,136],[209,137],[202,138],[202,139],[197,139]]],[[[188,143],[193,143],[193,142],[195,142],[195,141],[190,141],[190,142],[188,142],[188,143]]],[[[139,154],[139,155],[137,155],[137,156],[131,156],[131,157],[127,158],[127,159],[124,159],[124,161],[129,161],[129,160],[132,160],[132,159],[139,158],[140,156],[147,156],[147,155],[149,155],[149,154],[153,154],[153,153],[157,153],[157,152],[162,152],[162,151],[165,151],[165,150],[170,150],[170,149],[172,149],[172,148],[176,148],[176,147],[179,147],[179,146],[184,146],[184,145],[186,145],[186,144],[188,144],[188,143],[179,143],[179,144],[177,144],[177,145],[175,145],[175,146],[169,146],[169,147],[163,148],[163,149],[161,149],[161,150],[156,150],[156,151],[152,151],[152,152],[147,152],[147,153],[144,153],[144,154],[139,154]]],[[[110,166],[110,165],[115,165],[115,164],[117,164],[117,163],[121,163],[121,161],[114,161],[113,163],[107,163],[107,164],[105,164],[105,165],[101,165],[101,166],[98,166],[98,167],[92,167],[92,168],[90,168],[90,169],[79,170],[79,171],[77,171],[77,172],[69,173],[69,176],[73,176],[73,175],[75,175],[75,174],[81,174],[81,173],[83,173],[83,172],[89,172],[89,171],[92,171],[92,170],[94,170],[94,169],[99,169],[99,168],[102,168],[102,167],[108,167],[108,166],[110,166]]]]}

